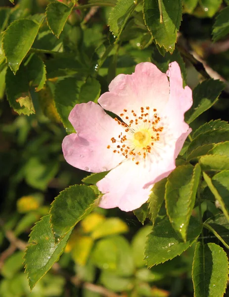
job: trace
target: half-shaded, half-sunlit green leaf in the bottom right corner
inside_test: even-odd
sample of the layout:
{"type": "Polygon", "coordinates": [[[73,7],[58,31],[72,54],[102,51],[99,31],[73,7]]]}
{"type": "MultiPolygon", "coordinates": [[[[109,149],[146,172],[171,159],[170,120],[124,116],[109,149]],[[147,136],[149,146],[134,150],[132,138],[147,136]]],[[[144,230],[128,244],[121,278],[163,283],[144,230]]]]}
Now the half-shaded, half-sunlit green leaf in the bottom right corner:
{"type": "Polygon", "coordinates": [[[222,297],[228,273],[228,257],[222,247],[197,243],[192,266],[195,297],[222,297]]]}

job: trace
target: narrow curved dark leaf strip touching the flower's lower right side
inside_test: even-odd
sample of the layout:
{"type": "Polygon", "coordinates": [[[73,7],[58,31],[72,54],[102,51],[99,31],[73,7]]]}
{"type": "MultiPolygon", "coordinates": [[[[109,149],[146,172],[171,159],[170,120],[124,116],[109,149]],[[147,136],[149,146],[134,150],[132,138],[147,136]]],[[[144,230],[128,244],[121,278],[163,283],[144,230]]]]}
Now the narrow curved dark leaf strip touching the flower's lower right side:
{"type": "MultiPolygon", "coordinates": [[[[205,133],[201,133],[196,138],[194,138],[188,146],[186,152],[187,159],[191,159],[192,152],[201,146],[218,144],[224,141],[229,141],[229,129],[227,128],[218,128],[215,130],[213,129],[211,131],[207,131],[205,133]]],[[[210,146],[209,149],[211,149],[210,146]]]]}

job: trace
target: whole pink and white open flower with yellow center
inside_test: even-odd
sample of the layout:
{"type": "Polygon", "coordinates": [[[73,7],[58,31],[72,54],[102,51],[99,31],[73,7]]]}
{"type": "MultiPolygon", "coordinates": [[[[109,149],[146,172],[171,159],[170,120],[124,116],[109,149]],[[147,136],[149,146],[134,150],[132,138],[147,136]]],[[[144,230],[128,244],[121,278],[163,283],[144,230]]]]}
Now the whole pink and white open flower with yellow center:
{"type": "Polygon", "coordinates": [[[64,138],[64,157],[89,172],[111,170],[97,183],[104,194],[100,207],[134,210],[176,167],[175,159],[191,132],[184,113],[192,105],[192,92],[187,86],[183,89],[177,62],[170,64],[167,75],[146,62],[132,75],[118,75],[98,102],[101,106],[77,104],[70,112],[77,134],[64,138]]]}

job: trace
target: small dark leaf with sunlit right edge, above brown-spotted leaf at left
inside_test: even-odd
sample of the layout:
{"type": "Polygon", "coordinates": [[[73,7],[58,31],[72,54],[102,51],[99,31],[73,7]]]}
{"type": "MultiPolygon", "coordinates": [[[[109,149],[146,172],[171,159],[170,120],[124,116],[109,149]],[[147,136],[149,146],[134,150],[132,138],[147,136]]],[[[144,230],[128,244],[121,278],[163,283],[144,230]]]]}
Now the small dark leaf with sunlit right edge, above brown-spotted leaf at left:
{"type": "Polygon", "coordinates": [[[27,67],[27,75],[32,86],[37,86],[36,92],[44,88],[46,83],[46,65],[43,60],[36,54],[32,54],[25,66],[27,67]]]}

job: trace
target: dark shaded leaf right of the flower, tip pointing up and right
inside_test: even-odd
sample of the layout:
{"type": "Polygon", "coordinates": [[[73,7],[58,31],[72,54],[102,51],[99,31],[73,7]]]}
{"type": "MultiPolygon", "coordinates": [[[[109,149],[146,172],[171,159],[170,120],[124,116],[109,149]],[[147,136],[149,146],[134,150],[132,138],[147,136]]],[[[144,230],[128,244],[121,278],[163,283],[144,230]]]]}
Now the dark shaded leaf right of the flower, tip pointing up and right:
{"type": "Polygon", "coordinates": [[[190,124],[201,113],[209,109],[223,91],[225,84],[219,80],[209,79],[197,85],[192,92],[193,104],[185,113],[185,122],[190,124]]]}

